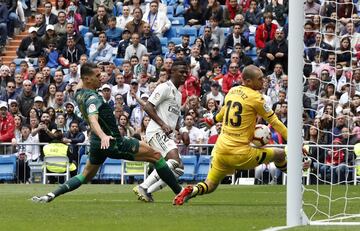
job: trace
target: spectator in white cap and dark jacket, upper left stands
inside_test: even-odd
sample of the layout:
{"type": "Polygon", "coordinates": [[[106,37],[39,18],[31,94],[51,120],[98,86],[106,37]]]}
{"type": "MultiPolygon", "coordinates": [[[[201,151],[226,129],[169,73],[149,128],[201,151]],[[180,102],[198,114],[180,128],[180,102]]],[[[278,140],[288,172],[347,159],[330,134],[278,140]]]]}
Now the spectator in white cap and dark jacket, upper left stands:
{"type": "Polygon", "coordinates": [[[16,54],[19,58],[37,58],[41,54],[41,43],[35,27],[29,28],[29,36],[21,40],[16,54]]]}

